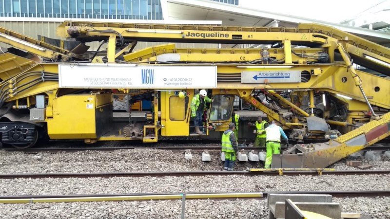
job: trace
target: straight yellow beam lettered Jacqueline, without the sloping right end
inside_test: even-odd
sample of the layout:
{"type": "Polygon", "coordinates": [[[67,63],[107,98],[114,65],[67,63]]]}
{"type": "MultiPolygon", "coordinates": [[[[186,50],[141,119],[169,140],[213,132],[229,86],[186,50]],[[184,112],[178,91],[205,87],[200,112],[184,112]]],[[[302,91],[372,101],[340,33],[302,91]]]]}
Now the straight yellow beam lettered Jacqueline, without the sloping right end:
{"type": "MultiPolygon", "coordinates": [[[[172,26],[172,25],[170,25],[172,26]]],[[[78,21],[65,21],[57,29],[57,35],[59,37],[73,37],[69,33],[80,34],[78,37],[92,37],[92,36],[107,36],[111,33],[98,32],[106,31],[107,29],[115,29],[118,33],[121,33],[123,37],[135,38],[135,39],[152,39],[152,41],[170,41],[170,39],[180,38],[182,41],[191,40],[194,42],[197,40],[219,40],[232,41],[232,36],[241,36],[240,41],[244,42],[258,42],[262,41],[277,41],[277,40],[291,40],[291,41],[305,41],[324,44],[328,38],[326,35],[312,34],[312,33],[299,33],[296,32],[296,28],[242,28],[242,27],[221,27],[221,26],[188,26],[189,30],[182,29],[166,29],[163,31],[150,31],[150,29],[156,29],[157,25],[134,25],[128,24],[128,27],[118,25],[117,27],[109,27],[105,23],[95,23],[93,25],[86,24],[85,22],[78,21]],[[78,25],[78,26],[77,26],[78,25]],[[75,28],[76,27],[76,28],[75,28]],[[153,27],[153,28],[150,28],[153,27]],[[89,31],[93,28],[93,32],[89,31]],[[71,29],[69,31],[69,29],[71,29]],[[282,31],[284,30],[284,31],[282,31]],[[214,32],[214,33],[213,33],[214,32]],[[221,33],[219,33],[221,32],[221,33]],[[229,32],[229,33],[225,33],[229,32]],[[194,34],[194,36],[192,35],[194,34]],[[214,34],[210,36],[211,34],[214,34]],[[226,37],[228,35],[228,37],[226,37]],[[208,37],[207,37],[208,36],[208,37]],[[275,40],[276,39],[276,40],[275,40]]],[[[166,28],[166,25],[164,26],[166,28]]],[[[168,27],[169,28],[169,27],[168,27]]]]}

